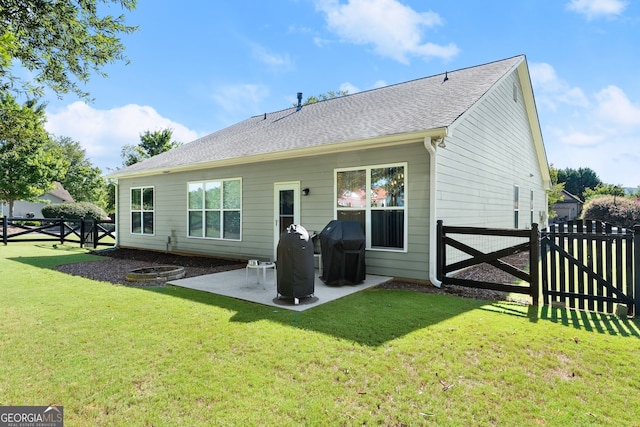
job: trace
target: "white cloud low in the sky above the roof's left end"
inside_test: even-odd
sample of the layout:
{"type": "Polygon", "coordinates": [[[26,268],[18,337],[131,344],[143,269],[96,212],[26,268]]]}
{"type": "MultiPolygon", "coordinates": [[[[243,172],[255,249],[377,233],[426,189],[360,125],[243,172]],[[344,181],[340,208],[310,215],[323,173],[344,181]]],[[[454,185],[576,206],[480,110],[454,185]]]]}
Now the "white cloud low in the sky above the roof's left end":
{"type": "Polygon", "coordinates": [[[170,128],[175,141],[187,143],[198,138],[197,132],[162,117],[150,106],[129,104],[110,110],[97,110],[76,101],[56,111],[47,111],[46,129],[56,136],[78,141],[91,162],[101,168],[122,166],[120,152],[124,145],[137,145],[140,134],[170,128]]]}

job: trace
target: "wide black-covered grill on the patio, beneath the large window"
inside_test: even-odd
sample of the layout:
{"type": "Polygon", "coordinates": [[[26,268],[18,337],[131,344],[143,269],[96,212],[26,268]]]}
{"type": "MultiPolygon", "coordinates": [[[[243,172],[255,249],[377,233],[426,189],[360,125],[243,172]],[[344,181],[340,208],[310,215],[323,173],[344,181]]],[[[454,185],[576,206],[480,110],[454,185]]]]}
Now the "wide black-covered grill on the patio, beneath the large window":
{"type": "Polygon", "coordinates": [[[365,240],[359,222],[331,221],[320,232],[320,248],[324,283],[356,285],[364,281],[365,240]]]}

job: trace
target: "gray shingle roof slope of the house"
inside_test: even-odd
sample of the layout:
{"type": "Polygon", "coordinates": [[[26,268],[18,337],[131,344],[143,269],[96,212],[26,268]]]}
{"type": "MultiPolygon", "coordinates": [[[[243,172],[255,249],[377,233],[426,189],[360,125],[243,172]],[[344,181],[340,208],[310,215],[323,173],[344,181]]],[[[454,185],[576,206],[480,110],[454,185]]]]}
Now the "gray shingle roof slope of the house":
{"type": "Polygon", "coordinates": [[[524,56],[251,117],[111,176],[448,127],[524,56]]]}

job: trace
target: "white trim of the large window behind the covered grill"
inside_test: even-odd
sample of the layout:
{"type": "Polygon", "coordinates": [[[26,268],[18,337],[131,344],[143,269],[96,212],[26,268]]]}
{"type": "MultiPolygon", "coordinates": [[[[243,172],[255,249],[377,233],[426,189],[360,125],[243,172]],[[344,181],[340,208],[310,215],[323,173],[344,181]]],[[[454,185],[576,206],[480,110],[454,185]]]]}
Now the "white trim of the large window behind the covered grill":
{"type": "MultiPolygon", "coordinates": [[[[375,210],[402,210],[404,212],[404,230],[403,230],[403,248],[383,248],[379,246],[372,247],[371,246],[371,192],[366,192],[366,201],[365,201],[365,238],[366,238],[366,246],[365,249],[368,251],[376,251],[376,252],[399,252],[399,253],[407,253],[409,251],[409,166],[407,162],[399,162],[399,163],[384,163],[379,165],[366,165],[366,166],[352,166],[345,168],[336,168],[333,170],[333,218],[338,218],[338,211],[340,210],[349,210],[349,209],[338,209],[336,203],[336,196],[338,194],[338,173],[346,172],[346,171],[356,171],[356,170],[365,170],[365,187],[371,188],[371,169],[380,169],[380,168],[388,168],[394,166],[401,166],[404,168],[404,206],[396,206],[395,209],[392,207],[379,208],[375,210]]],[[[357,208],[353,210],[362,210],[362,208],[357,208]]]]}

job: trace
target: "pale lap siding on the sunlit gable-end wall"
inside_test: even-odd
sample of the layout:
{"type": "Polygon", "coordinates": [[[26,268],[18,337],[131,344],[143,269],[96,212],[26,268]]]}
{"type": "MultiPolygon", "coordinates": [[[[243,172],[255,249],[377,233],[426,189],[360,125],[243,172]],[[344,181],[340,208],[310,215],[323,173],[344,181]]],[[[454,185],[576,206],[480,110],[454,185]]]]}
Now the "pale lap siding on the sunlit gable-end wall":
{"type": "Polygon", "coordinates": [[[534,222],[545,220],[546,193],[515,73],[455,125],[437,161],[437,210],[445,225],[513,228],[514,185],[520,187],[519,228],[531,226],[530,190],[534,222]]]}

